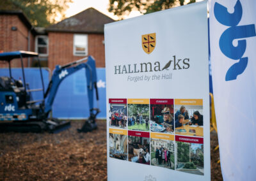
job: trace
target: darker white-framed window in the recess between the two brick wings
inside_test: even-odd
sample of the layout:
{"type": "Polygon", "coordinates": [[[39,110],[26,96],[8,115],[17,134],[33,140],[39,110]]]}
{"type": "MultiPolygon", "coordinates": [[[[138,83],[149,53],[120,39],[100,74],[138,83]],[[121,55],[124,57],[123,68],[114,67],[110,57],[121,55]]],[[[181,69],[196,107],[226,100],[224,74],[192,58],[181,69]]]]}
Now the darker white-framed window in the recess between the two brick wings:
{"type": "Polygon", "coordinates": [[[40,56],[48,55],[48,36],[36,36],[36,52],[40,56]]]}

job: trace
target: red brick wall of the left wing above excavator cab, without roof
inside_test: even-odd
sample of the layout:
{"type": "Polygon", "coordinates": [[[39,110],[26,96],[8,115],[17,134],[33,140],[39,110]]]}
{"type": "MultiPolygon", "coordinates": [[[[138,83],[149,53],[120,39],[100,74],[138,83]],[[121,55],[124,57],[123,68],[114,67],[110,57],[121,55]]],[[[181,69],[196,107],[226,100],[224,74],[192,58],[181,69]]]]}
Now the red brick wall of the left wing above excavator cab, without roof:
{"type": "MultiPolygon", "coordinates": [[[[28,51],[28,27],[20,20],[18,15],[0,15],[0,51],[12,52],[18,50],[28,51]],[[17,27],[17,31],[12,31],[12,26],[17,27]]],[[[35,50],[35,39],[30,35],[30,51],[35,50]]],[[[12,67],[20,67],[19,60],[12,61],[12,67]]],[[[28,59],[24,59],[24,66],[28,66],[28,59]]],[[[8,68],[7,63],[0,62],[0,68],[8,68]]]]}

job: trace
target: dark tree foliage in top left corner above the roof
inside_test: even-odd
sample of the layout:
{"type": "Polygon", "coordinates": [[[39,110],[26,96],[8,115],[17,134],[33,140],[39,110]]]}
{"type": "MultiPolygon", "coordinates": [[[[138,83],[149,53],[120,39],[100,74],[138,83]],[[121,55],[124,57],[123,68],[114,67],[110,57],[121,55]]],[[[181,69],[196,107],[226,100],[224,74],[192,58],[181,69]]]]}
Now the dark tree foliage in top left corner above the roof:
{"type": "Polygon", "coordinates": [[[46,27],[56,23],[56,17],[65,18],[65,10],[72,0],[4,0],[1,10],[22,10],[34,26],[46,27]]]}

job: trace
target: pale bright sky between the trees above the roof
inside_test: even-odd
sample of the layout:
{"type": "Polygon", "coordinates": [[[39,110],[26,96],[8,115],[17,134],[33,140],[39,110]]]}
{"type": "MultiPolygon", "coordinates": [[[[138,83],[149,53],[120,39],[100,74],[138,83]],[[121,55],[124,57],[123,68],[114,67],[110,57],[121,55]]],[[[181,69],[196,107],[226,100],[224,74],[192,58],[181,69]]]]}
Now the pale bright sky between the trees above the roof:
{"type": "MultiPolygon", "coordinates": [[[[203,0],[196,0],[203,1],[203,0]]],[[[185,0],[185,4],[188,0],[185,0]]],[[[118,20],[113,13],[109,13],[108,11],[109,0],[73,0],[73,3],[69,3],[69,8],[66,11],[66,17],[71,17],[72,15],[76,15],[87,8],[95,8],[96,10],[108,15],[108,17],[113,18],[114,20],[118,20]]],[[[131,13],[124,18],[132,18],[140,16],[141,13],[139,11],[131,11],[131,13]]]]}

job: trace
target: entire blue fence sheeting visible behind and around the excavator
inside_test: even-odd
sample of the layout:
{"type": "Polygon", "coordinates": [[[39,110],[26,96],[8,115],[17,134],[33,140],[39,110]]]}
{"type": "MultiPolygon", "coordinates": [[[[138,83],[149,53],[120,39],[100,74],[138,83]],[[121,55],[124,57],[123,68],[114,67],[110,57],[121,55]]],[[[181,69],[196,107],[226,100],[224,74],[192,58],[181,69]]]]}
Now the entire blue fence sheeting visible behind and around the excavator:
{"type": "MultiPolygon", "coordinates": [[[[30,89],[42,88],[40,71],[38,68],[25,68],[25,79],[29,83],[30,89]]],[[[44,77],[45,90],[49,83],[49,71],[42,69],[44,77]]],[[[9,76],[9,69],[0,69],[0,76],[9,76]]],[[[13,78],[19,80],[22,78],[22,70],[20,68],[12,69],[13,78]]],[[[99,108],[100,113],[97,118],[106,118],[106,78],[105,68],[97,68],[97,86],[99,91],[99,108]]],[[[85,119],[90,116],[88,107],[88,97],[86,89],[86,76],[85,70],[81,69],[76,73],[67,76],[61,82],[56,98],[52,105],[52,117],[65,118],[65,119],[85,119]]],[[[33,92],[33,99],[43,99],[43,93],[33,92]]],[[[94,94],[95,96],[95,94],[94,94]]],[[[97,107],[95,98],[94,107],[97,107]]]]}

